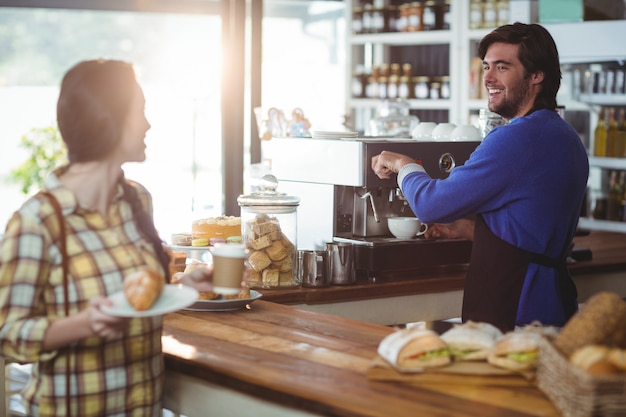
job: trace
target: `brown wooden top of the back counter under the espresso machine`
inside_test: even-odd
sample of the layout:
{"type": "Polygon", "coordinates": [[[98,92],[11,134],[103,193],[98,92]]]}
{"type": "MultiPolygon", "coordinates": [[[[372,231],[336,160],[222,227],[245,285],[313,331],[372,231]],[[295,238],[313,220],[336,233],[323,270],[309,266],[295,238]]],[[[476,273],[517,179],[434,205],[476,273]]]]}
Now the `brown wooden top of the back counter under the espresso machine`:
{"type": "MultiPolygon", "coordinates": [[[[592,231],[587,236],[577,236],[574,248],[588,248],[592,259],[570,264],[572,276],[626,271],[626,234],[592,231]]],[[[412,279],[326,288],[260,289],[266,301],[282,304],[316,304],[407,294],[430,294],[462,290],[467,265],[424,268],[412,279]]]]}

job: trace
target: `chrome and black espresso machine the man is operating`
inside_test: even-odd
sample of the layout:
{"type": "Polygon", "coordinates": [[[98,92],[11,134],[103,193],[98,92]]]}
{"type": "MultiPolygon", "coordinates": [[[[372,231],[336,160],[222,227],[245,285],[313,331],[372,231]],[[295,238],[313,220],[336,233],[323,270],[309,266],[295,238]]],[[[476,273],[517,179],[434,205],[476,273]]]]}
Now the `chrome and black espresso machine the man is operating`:
{"type": "MultiPolygon", "coordinates": [[[[397,239],[390,216],[415,216],[396,178],[383,180],[370,168],[383,150],[412,156],[433,178],[446,178],[480,142],[417,142],[410,139],[273,138],[263,155],[279,180],[278,191],[300,197],[298,249],[350,242],[357,278],[369,281],[414,277],[427,266],[469,262],[467,240],[397,239]]],[[[454,198],[454,196],[450,196],[454,198]]]]}

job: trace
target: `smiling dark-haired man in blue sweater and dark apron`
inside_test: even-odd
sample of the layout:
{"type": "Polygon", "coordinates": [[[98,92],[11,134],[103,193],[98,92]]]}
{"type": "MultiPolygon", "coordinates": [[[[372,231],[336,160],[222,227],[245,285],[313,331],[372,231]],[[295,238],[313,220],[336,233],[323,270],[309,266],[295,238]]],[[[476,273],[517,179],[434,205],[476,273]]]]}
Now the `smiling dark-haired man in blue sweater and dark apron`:
{"type": "Polygon", "coordinates": [[[502,330],[534,320],[562,326],[577,310],[566,257],[589,174],[576,131],[556,112],[559,55],[540,25],[496,28],[478,46],[489,110],[509,123],[493,129],[447,179],[432,179],[406,155],[372,158],[398,185],[426,236],[473,240],[463,321],[502,330]],[[471,220],[470,220],[471,219],[471,220]]]}

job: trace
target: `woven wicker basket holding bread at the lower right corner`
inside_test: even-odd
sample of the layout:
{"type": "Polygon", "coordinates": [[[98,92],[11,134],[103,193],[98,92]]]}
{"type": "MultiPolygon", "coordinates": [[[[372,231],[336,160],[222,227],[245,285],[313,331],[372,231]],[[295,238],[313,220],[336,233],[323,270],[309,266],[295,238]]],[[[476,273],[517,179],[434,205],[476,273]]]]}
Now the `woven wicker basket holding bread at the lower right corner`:
{"type": "Polygon", "coordinates": [[[626,416],[626,375],[591,376],[542,339],[537,386],[564,417],[626,416]]]}

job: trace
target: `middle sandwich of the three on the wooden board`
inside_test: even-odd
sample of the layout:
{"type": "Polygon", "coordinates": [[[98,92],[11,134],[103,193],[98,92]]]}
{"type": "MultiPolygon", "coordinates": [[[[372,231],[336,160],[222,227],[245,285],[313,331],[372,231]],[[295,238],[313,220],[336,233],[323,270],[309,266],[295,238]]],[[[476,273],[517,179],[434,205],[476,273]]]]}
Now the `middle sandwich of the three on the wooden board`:
{"type": "Polygon", "coordinates": [[[487,359],[496,339],[501,336],[500,329],[489,323],[468,321],[446,331],[441,338],[454,360],[474,361],[487,359]]]}

